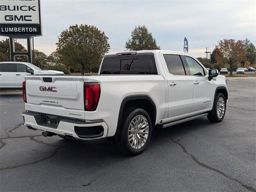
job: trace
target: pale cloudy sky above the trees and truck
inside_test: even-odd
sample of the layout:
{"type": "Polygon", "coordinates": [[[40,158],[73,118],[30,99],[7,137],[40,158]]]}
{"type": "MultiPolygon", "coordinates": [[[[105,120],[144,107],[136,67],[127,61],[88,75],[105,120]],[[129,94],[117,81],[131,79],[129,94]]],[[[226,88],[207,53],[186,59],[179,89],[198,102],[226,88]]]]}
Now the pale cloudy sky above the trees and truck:
{"type": "MultiPolygon", "coordinates": [[[[162,50],[205,57],[218,40],[250,39],[256,44],[256,0],[41,0],[43,36],[34,47],[49,55],[60,33],[74,24],[98,27],[109,38],[111,52],[124,45],[137,25],[146,25],[162,50]]],[[[0,40],[5,39],[0,37],[0,40]]]]}

